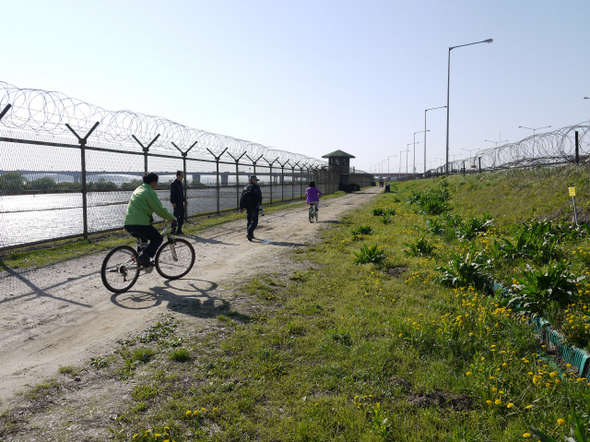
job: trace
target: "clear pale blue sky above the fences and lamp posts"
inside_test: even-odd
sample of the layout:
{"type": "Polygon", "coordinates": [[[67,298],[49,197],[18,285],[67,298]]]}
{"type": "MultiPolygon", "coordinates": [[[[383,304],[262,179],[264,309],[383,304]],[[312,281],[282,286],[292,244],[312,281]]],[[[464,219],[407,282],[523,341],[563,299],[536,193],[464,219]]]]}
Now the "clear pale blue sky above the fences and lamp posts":
{"type": "Polygon", "coordinates": [[[494,40],[451,52],[452,160],[588,124],[589,26],[589,0],[0,0],[0,80],[371,172],[415,138],[421,171],[450,46],[494,40]]]}

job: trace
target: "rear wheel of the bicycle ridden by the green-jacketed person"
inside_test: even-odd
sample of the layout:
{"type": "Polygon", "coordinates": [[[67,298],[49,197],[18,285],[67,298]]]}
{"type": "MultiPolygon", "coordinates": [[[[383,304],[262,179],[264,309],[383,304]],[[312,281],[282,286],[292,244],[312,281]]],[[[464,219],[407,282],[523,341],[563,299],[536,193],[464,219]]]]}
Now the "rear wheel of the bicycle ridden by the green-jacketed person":
{"type": "Polygon", "coordinates": [[[139,277],[137,252],[129,246],[115,247],[102,262],[100,276],[104,286],[111,292],[126,292],[139,277]]]}

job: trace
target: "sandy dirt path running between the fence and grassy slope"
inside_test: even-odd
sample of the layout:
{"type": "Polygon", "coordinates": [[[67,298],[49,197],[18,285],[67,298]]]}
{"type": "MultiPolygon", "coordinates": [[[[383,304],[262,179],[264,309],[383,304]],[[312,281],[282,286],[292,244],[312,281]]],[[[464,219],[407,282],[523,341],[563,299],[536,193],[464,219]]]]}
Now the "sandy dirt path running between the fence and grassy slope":
{"type": "MultiPolygon", "coordinates": [[[[267,214],[260,218],[253,242],[245,238],[245,220],[187,236],[197,260],[185,278],[166,281],[154,271],[121,295],[112,295],[102,285],[99,267],[104,254],[3,278],[8,292],[0,291],[2,408],[27,384],[55,376],[60,366],[82,365],[107,354],[117,340],[145,330],[161,313],[187,299],[210,307],[239,302],[223,284],[279,271],[282,251],[304,247],[317,238],[320,228],[380,191],[374,187],[322,201],[317,224],[309,223],[301,207],[267,214]]],[[[203,327],[212,320],[193,319],[203,321],[203,327]]]]}

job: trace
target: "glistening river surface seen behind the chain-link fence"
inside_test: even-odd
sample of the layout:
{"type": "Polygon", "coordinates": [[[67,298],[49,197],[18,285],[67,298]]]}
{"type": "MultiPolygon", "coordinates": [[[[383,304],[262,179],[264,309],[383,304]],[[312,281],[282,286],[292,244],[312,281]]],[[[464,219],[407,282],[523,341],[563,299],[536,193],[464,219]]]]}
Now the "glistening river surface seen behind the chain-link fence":
{"type": "MultiPolygon", "coordinates": [[[[236,208],[239,193],[235,187],[219,190],[219,210],[236,208]]],[[[270,202],[270,187],[262,187],[263,202],[270,202]]],[[[299,185],[275,185],[272,201],[290,200],[301,195],[299,185]],[[294,192],[293,192],[294,190],[294,192]],[[294,195],[293,195],[294,193],[294,195]]],[[[90,192],[87,194],[88,232],[96,233],[123,226],[132,191],[90,192]]],[[[158,190],[164,207],[172,212],[170,191],[158,190]]],[[[305,189],[303,189],[303,194],[305,189]]],[[[217,189],[189,189],[188,215],[217,211],[217,189]]],[[[156,220],[160,218],[154,216],[156,220]]],[[[0,196],[0,250],[38,241],[82,235],[84,221],[81,193],[0,196]]]]}

